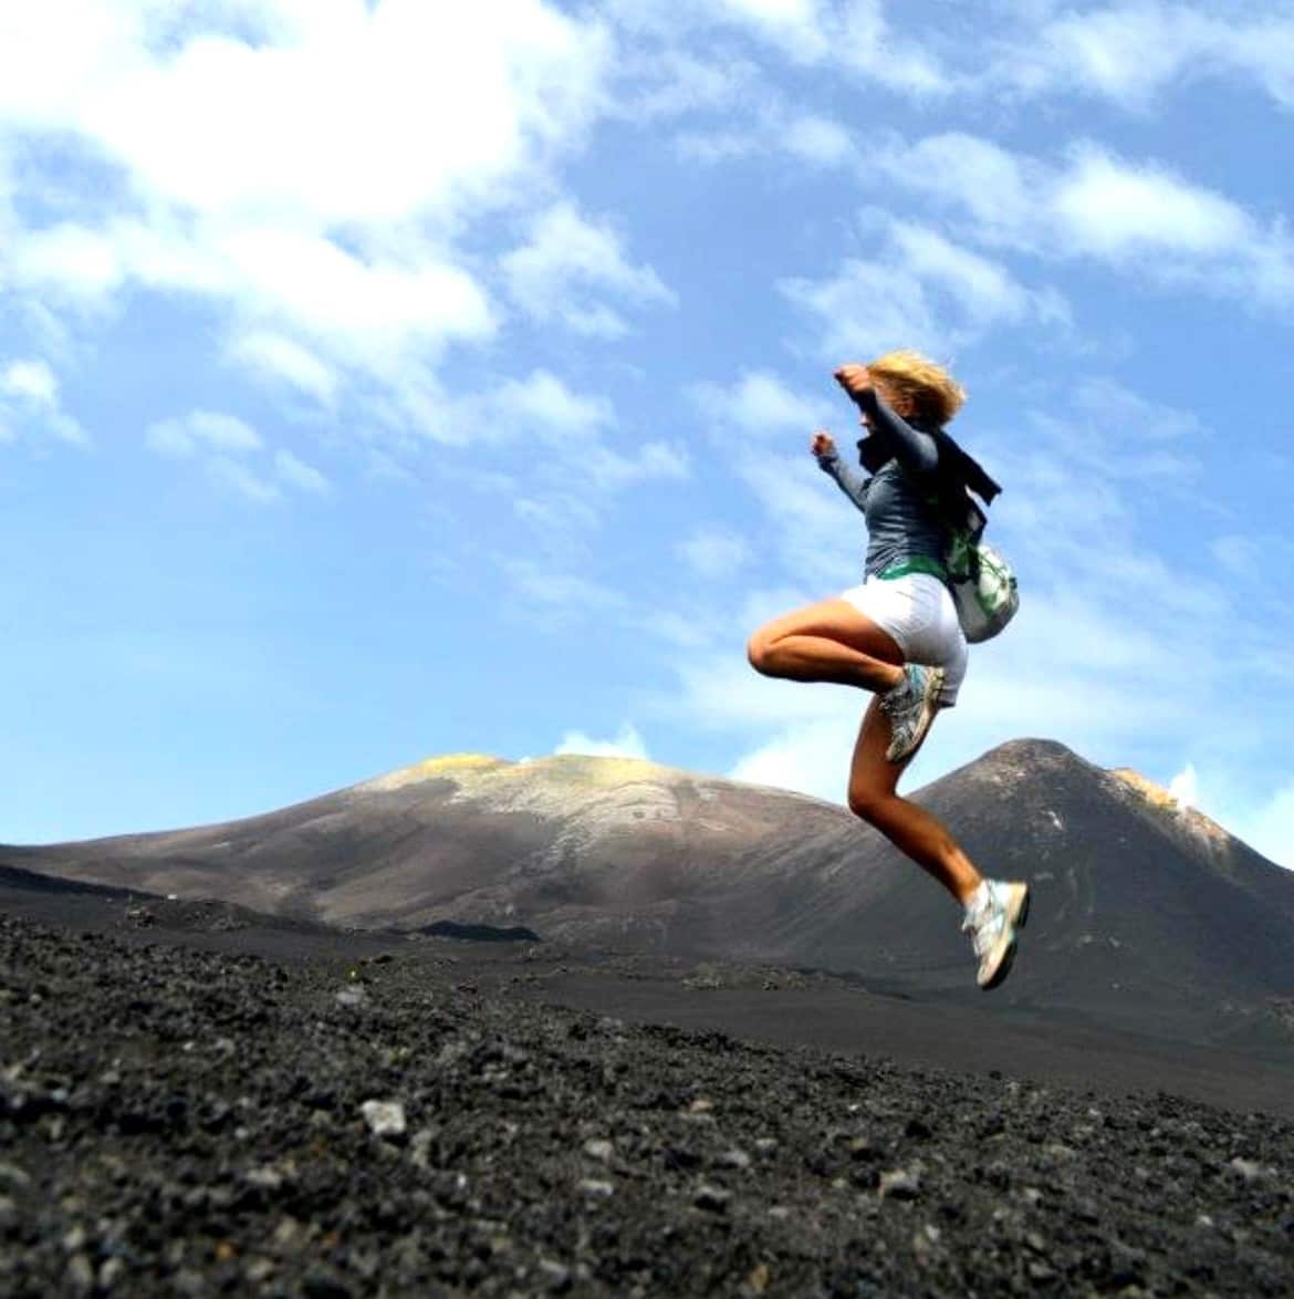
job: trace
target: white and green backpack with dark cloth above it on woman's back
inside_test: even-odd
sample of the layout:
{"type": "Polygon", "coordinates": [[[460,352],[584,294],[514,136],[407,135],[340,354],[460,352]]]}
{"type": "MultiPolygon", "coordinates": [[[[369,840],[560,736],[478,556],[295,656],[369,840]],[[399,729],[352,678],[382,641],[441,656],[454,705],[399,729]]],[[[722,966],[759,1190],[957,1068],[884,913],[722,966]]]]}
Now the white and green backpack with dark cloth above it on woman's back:
{"type": "Polygon", "coordinates": [[[995,637],[1020,608],[1020,591],[1006,556],[984,540],[988,517],[971,499],[990,503],[1001,487],[942,429],[932,430],[940,452],[940,486],[927,498],[947,535],[944,568],[962,633],[971,644],[995,637]]]}

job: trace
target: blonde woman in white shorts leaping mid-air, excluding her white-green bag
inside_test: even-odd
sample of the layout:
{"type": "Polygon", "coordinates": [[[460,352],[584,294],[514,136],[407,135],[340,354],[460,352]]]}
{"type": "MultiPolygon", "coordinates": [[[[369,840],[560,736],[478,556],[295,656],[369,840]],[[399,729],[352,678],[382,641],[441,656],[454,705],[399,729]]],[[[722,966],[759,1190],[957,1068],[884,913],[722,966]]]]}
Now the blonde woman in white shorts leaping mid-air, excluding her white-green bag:
{"type": "Polygon", "coordinates": [[[915,352],[842,365],[836,382],[862,412],[863,478],[827,431],[812,435],[818,465],[863,512],[863,582],[833,600],[775,618],[748,647],[767,677],[829,681],[873,694],[849,770],[849,808],[928,870],[964,909],[981,989],[997,987],[1015,959],[1028,885],[985,879],[942,822],[899,798],[898,778],[934,714],[957,703],[967,644],[944,569],[945,530],[931,504],[949,479],[989,499],[997,485],[944,433],[966,395],[915,352]]]}

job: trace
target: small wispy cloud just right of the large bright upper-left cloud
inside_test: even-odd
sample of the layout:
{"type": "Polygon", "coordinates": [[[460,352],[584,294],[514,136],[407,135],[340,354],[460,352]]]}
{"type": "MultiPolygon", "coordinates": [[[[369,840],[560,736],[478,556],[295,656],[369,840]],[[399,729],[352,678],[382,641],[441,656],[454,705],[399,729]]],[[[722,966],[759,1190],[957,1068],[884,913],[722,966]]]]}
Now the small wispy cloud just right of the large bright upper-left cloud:
{"type": "Polygon", "coordinates": [[[501,262],[513,299],[539,321],[561,321],[576,334],[619,338],[629,326],[597,295],[632,305],[672,305],[675,295],[650,266],[624,257],[620,236],[593,225],[568,203],[543,213],[530,243],[501,262]]]}

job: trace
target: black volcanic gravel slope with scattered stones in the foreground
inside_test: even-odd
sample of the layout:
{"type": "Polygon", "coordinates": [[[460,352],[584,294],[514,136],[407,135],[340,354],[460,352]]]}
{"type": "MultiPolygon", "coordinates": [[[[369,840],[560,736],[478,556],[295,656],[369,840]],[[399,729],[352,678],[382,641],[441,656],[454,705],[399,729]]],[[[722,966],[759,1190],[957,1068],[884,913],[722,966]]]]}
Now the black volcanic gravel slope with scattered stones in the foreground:
{"type": "Polygon", "coordinates": [[[1294,1290],[1294,1126],[0,917],[0,1293],[1294,1290]],[[391,1112],[367,1102],[401,1107],[391,1112]]]}

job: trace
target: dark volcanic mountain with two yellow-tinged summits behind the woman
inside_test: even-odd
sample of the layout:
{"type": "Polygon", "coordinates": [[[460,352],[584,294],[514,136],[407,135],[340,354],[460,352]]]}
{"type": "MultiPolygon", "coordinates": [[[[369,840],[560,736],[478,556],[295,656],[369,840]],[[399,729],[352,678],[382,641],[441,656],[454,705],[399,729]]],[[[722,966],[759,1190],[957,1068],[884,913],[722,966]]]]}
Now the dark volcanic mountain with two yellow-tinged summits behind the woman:
{"type": "MultiPolygon", "coordinates": [[[[985,874],[1033,889],[994,1004],[1142,1033],[1294,1040],[1294,873],[1134,773],[1015,740],[919,790],[985,874]]],[[[349,929],[845,972],[979,996],[960,914],[844,808],[626,759],[430,759],[263,816],[0,864],[349,929]]]]}

